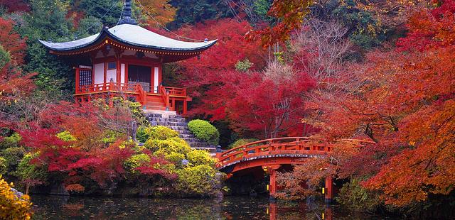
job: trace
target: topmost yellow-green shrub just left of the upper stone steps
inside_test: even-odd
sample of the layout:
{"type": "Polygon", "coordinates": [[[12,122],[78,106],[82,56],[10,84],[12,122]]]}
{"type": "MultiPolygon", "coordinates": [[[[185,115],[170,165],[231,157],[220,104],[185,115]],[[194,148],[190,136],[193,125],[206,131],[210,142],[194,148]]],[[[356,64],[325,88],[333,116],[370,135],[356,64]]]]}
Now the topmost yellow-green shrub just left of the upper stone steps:
{"type": "Polygon", "coordinates": [[[137,141],[141,143],[145,143],[150,138],[151,139],[158,139],[158,140],[166,140],[168,138],[178,137],[178,132],[173,131],[171,128],[167,128],[165,126],[152,126],[152,127],[144,127],[140,126],[137,129],[136,138],[137,141]]]}

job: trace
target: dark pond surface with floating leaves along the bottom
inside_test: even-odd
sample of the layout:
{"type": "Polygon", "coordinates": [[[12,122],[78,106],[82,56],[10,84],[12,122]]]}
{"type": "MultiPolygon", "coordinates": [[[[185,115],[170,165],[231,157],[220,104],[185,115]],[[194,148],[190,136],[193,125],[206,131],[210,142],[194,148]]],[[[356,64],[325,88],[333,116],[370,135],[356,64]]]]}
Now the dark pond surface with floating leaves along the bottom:
{"type": "Polygon", "coordinates": [[[267,197],[151,199],[32,195],[33,219],[386,219],[318,202],[267,197]]]}

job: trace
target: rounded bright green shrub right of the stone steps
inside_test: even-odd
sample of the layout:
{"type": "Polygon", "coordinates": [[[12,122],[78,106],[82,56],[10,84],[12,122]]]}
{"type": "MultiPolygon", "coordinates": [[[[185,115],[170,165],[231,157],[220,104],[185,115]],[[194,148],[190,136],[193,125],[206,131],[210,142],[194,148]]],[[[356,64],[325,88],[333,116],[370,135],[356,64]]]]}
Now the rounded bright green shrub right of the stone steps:
{"type": "Polygon", "coordinates": [[[210,143],[212,145],[218,145],[220,141],[220,132],[218,132],[215,126],[208,123],[208,121],[196,119],[188,122],[188,128],[196,138],[210,143]]]}

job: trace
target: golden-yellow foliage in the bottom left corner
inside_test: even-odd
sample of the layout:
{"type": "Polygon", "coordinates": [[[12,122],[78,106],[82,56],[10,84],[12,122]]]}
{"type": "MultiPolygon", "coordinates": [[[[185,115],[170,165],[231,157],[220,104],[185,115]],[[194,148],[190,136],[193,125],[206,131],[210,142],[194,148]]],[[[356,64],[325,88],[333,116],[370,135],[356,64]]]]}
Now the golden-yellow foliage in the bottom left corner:
{"type": "Polygon", "coordinates": [[[0,176],[0,219],[31,219],[30,197],[18,197],[12,187],[0,176]]]}

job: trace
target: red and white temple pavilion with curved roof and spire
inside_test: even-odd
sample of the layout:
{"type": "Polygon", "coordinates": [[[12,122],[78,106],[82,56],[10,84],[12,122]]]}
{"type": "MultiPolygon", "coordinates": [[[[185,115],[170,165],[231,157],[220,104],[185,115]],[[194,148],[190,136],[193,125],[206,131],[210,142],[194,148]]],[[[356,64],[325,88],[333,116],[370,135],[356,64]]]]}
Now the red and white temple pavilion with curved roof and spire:
{"type": "Polygon", "coordinates": [[[49,52],[75,63],[75,100],[107,97],[134,99],[144,110],[185,114],[186,89],[163,85],[163,65],[199,56],[216,43],[174,40],[137,25],[131,0],[125,1],[117,26],[70,42],[40,42],[49,52]]]}

